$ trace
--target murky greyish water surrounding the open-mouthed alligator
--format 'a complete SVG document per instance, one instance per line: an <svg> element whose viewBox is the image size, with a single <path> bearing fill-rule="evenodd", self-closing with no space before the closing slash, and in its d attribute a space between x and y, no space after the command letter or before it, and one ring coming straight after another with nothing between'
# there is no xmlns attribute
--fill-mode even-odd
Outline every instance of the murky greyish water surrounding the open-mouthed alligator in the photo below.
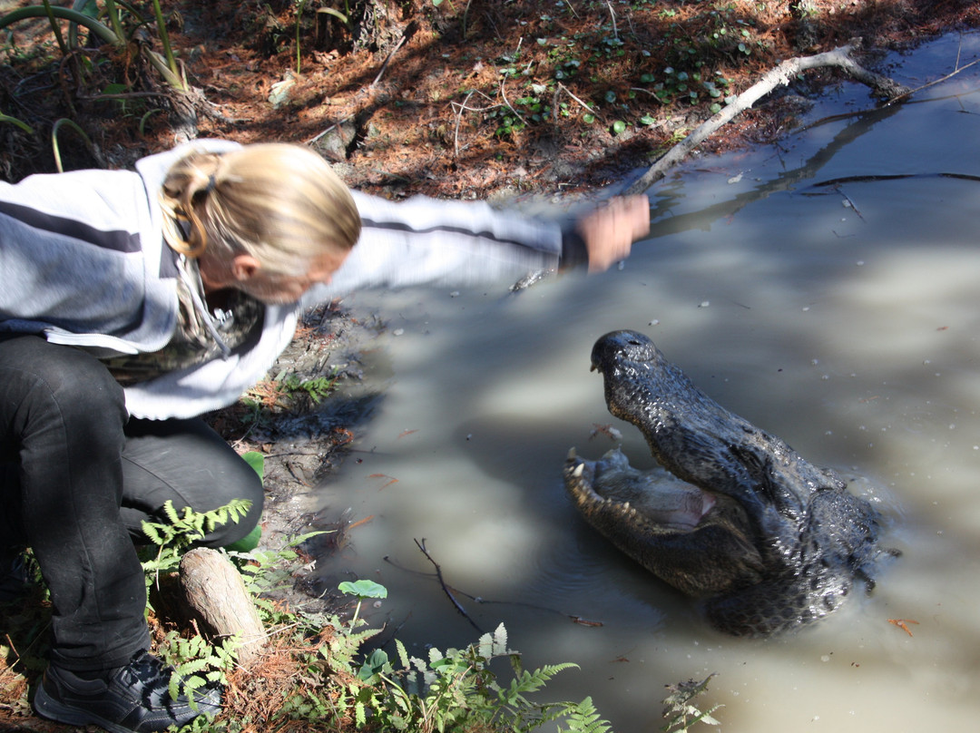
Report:
<svg viewBox="0 0 980 733"><path fill-rule="evenodd" d="M917 85L957 54L976 59L980 36L896 58L893 73ZM705 706L724 706L729 731L973 729L980 182L956 176L980 174L978 88L980 66L916 103L690 164L651 191L652 236L620 270L518 296L356 296L388 319L368 369L387 389L322 495L326 513L371 518L320 572L386 585L372 620L399 638L464 645L478 634L431 577L424 538L448 583L495 602L460 595L474 623L503 621L527 664L581 665L548 698L592 695L617 731L658 729L664 684L710 672ZM809 119L870 106L846 84ZM614 444L596 424L651 462L588 369L618 328L648 333L719 403L880 503L904 556L871 596L790 638L733 640L573 513L561 466L571 446L594 458ZM914 636L889 618L917 621Z"/></svg>

